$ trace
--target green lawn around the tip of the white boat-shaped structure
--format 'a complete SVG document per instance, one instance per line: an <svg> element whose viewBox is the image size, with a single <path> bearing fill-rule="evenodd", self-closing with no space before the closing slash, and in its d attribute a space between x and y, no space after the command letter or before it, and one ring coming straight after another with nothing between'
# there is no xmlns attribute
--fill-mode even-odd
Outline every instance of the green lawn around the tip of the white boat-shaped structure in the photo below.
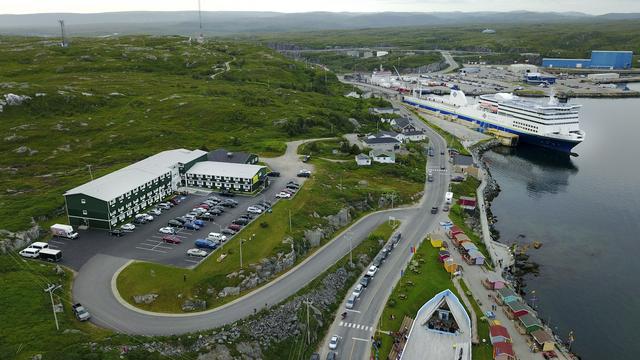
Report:
<svg viewBox="0 0 640 360"><path fill-rule="evenodd" d="M410 269L411 266L415 268L415 271ZM442 263L438 261L438 249L433 248L428 240L425 240L413 255L410 267L405 269L404 275L389 296L380 318L380 330L398 331L405 316L415 318L424 303L446 289L450 289L460 299L460 295L451 282L449 273L444 270ZM391 315L394 315L395 318L391 319ZM482 329L479 328L478 330ZM384 334L379 334L378 337L382 341L379 358L386 359L391 351L393 338ZM492 359L491 351L487 353L485 348L486 346L474 346L473 358L479 360ZM490 346L489 349L491 349Z"/></svg>

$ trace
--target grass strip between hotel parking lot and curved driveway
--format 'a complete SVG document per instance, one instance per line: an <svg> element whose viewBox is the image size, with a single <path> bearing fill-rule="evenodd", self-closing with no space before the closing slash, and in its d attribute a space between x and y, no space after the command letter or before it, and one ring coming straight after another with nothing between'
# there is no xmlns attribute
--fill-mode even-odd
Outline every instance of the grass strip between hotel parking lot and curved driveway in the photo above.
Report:
<svg viewBox="0 0 640 360"><path fill-rule="evenodd" d="M243 244L243 262L245 269L251 263L261 259L289 252L291 247L282 241L293 238L293 246L298 254L298 261L315 251L309 248L304 240L304 230L326 224L323 218L336 214L345 206L355 205L376 199L371 205L377 209L377 199L383 194L395 194L394 205L417 200L414 195L424 186L424 156L407 156L405 164L376 164L370 167L358 167L355 161L348 163L332 163L314 158L311 160L316 171L305 183L298 194L291 200L278 202L272 213L262 215L258 221L244 228L232 240L224 245L219 253L227 257L218 262L218 255L209 257L194 270L176 269L171 266L135 262L125 268L118 277L117 286L122 297L131 301L134 295L156 293L160 296L150 305L139 305L143 309L159 312L180 312L184 298L206 299L209 307L215 307L231 301L234 297L216 299L206 294L206 290L217 291L225 286L236 286L240 279L228 279L227 274L240 270L240 239L255 237ZM362 185L366 181L367 185ZM291 211L293 228L289 229L289 211ZM356 218L365 211L353 211ZM261 224L267 224L263 227ZM332 235L333 236L333 235ZM324 241L328 241L328 238ZM183 280L187 275L187 280ZM217 293L216 291L216 293ZM241 294L242 295L242 294Z"/></svg>

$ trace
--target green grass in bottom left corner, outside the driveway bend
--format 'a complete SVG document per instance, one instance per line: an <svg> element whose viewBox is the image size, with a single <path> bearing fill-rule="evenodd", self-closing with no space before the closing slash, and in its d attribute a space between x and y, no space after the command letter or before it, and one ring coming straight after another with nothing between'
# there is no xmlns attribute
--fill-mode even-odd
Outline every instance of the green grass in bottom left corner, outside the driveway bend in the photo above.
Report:
<svg viewBox="0 0 640 360"><path fill-rule="evenodd" d="M117 345L121 339L90 323L75 320L71 312L72 274L56 275L55 266L25 261L15 253L0 256L0 358L31 359L46 354L46 359L79 359L88 342L109 339ZM64 312L58 313L60 330L56 331L46 284L63 287L56 290L56 303L62 301ZM71 332L70 332L71 331ZM116 359L115 354L104 354Z"/></svg>

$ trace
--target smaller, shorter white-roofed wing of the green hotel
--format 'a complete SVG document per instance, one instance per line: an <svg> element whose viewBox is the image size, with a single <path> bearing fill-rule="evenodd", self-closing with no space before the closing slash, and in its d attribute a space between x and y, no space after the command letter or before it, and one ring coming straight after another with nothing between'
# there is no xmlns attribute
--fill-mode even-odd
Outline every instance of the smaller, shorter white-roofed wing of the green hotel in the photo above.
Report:
<svg viewBox="0 0 640 360"><path fill-rule="evenodd" d="M267 168L260 165L202 161L186 172L187 186L236 192L254 192L266 181Z"/></svg>

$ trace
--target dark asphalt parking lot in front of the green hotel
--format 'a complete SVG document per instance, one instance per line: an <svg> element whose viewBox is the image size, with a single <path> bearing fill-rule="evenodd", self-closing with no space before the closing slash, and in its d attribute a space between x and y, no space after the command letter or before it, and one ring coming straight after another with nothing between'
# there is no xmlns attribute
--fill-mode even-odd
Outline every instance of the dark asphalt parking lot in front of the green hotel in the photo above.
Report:
<svg viewBox="0 0 640 360"><path fill-rule="evenodd" d="M207 193L198 191L186 196L182 196L181 202L168 210L163 210L159 216L154 216L154 220L146 224L136 224L135 230L126 232L124 236L112 236L108 231L98 229L79 230L80 237L75 240L65 238L53 238L49 246L63 252L62 264L73 269L80 269L82 265L95 254L107 254L123 258L157 262L177 267L193 267L201 262L203 257L188 256L187 250L194 248L196 239L205 239L210 232L221 232L234 219L247 213L247 208L261 201L269 201L273 205L278 199L275 195L282 190L289 180L294 180L302 184L303 179L290 177L269 178L270 185L261 193L254 196L236 195L232 197L238 202L236 207L227 207L225 212L216 216L213 221L204 221L204 226L199 230L178 229L175 236L180 240L179 244L170 244L163 241L166 234L159 232L159 229L166 227L169 220L183 216L197 207L209 196L217 196L225 199L218 193ZM287 200L284 200L287 201ZM251 221L260 219L254 217ZM233 235L238 236L238 235ZM250 234L243 234L250 236ZM228 239L231 236L227 235ZM228 241L228 240L227 240ZM217 256L225 243L211 252L209 256Z"/></svg>

